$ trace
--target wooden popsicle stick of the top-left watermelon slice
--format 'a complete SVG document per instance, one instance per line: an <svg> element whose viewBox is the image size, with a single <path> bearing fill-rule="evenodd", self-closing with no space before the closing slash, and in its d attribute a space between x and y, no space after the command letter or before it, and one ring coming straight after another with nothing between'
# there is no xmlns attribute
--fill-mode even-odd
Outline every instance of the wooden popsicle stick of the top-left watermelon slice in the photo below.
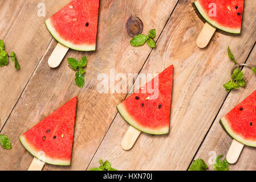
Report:
<svg viewBox="0 0 256 182"><path fill-rule="evenodd" d="M52 51L51 56L48 59L48 64L51 68L56 68L62 62L64 56L68 51L68 47L63 46L62 44L58 43L55 47L54 51Z"/></svg>

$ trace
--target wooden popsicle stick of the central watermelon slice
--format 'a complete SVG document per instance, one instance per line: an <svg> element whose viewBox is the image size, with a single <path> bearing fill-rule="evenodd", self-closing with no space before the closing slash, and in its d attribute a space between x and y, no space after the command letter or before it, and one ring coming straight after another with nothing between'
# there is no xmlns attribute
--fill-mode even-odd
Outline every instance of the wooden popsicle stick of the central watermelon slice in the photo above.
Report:
<svg viewBox="0 0 256 182"><path fill-rule="evenodd" d="M130 126L121 142L121 146L122 146L123 150L130 150L133 147L133 145L135 144L140 133L141 133L141 131Z"/></svg>

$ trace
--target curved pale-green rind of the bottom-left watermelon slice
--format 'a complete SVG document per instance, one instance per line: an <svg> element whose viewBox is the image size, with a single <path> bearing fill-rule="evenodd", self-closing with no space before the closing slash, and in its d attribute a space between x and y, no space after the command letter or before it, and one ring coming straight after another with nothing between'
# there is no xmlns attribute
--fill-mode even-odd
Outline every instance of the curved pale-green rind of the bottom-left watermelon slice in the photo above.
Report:
<svg viewBox="0 0 256 182"><path fill-rule="evenodd" d="M38 150L35 150L34 149L35 147L33 147L26 140L26 138L23 137L23 135L21 135L21 137L19 137L19 140L21 141L23 146L26 148L26 150L30 152L30 154L32 154L35 158L41 160L42 162L45 162L47 164L52 164L52 165L58 165L58 166L70 166L70 160L53 159L53 158L50 158L47 156L45 156L45 160L41 159L40 156L38 155Z"/></svg>

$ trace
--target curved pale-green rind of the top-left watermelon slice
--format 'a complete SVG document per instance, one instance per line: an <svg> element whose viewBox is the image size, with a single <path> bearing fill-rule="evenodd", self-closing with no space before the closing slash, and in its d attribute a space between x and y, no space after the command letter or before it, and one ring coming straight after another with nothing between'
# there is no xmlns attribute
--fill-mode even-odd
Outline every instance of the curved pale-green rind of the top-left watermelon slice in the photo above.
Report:
<svg viewBox="0 0 256 182"><path fill-rule="evenodd" d="M67 40L64 40L58 32L55 30L55 28L52 26L51 18L48 18L44 22L46 24L46 27L48 31L51 33L51 35L63 46L66 46L68 48L74 49L76 51L95 51L96 50L96 43L95 44L81 44L76 45L74 43L68 42Z"/></svg>

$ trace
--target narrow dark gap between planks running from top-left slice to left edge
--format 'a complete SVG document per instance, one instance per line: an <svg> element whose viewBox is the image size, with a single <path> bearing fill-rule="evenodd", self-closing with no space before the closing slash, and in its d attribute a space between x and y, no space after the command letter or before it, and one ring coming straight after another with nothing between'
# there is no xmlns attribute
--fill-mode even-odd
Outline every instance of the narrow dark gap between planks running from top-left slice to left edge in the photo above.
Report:
<svg viewBox="0 0 256 182"><path fill-rule="evenodd" d="M2 130L3 130L3 128L5 127L6 123L8 122L8 120L9 120L11 114L13 113L13 110L15 109L15 107L17 106L17 104L18 104L18 102L19 102L19 99L21 98L23 92L24 92L25 89L27 88L27 85L29 85L29 82L30 82L32 76L34 75L36 69L38 68L38 65L39 65L39 64L41 63L41 61L43 60L43 57L46 55L47 50L48 50L48 48L50 47L50 44L52 43L53 40L54 40L54 38L52 38L52 39L50 40L50 42L48 43L48 45L47 45L45 51L43 52L42 57L40 57L38 63L36 64L34 71L31 73L31 76L29 77L29 80L27 81L26 85L24 86L24 88L23 88L21 94L19 95L18 100L15 102L15 104L14 104L14 106L13 106L13 109L11 109L10 114L8 115L6 121L3 123L2 129L0 129L0 133L2 132Z"/></svg>

